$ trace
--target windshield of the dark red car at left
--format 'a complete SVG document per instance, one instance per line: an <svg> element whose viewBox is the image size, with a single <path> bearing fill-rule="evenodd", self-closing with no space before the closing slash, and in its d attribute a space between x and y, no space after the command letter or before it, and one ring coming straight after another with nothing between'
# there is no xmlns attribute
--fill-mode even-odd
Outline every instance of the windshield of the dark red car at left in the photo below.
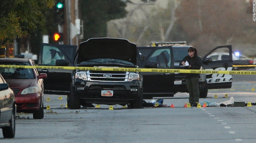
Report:
<svg viewBox="0 0 256 143"><path fill-rule="evenodd" d="M1 65L17 65L17 66L30 66L29 63L23 62L6 62L0 63ZM0 73L5 79L34 79L34 73L32 69L24 68L0 68Z"/></svg>

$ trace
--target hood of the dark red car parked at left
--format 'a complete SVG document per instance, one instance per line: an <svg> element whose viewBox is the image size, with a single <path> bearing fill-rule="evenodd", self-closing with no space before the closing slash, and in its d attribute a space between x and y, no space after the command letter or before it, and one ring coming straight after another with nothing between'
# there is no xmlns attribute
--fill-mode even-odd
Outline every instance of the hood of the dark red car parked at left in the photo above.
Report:
<svg viewBox="0 0 256 143"><path fill-rule="evenodd" d="M35 79L5 79L10 88L24 89L33 86Z"/></svg>

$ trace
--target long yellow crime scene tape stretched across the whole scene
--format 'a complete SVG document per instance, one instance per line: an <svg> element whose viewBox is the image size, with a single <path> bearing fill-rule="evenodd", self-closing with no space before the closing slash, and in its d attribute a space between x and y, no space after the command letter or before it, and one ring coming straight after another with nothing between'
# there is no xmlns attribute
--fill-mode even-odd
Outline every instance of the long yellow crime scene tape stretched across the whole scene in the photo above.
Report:
<svg viewBox="0 0 256 143"><path fill-rule="evenodd" d="M102 68L102 67L66 67L66 66L17 66L0 65L0 68L54 69L54 70L84 70L84 71L132 71L132 72L170 72L170 73L203 73L203 74L247 74L256 75L256 71L227 70L183 70L183 69L145 69L145 68Z"/></svg>

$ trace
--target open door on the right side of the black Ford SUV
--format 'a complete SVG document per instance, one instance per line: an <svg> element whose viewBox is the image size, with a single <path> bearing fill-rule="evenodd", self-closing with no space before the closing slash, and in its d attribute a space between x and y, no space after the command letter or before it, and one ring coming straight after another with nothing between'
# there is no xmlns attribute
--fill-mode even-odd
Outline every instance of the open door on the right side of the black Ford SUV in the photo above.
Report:
<svg viewBox="0 0 256 143"><path fill-rule="evenodd" d="M141 72L143 98L173 97L174 73L168 72L174 68L171 46L137 47L137 54L140 68L166 69L165 72Z"/></svg>

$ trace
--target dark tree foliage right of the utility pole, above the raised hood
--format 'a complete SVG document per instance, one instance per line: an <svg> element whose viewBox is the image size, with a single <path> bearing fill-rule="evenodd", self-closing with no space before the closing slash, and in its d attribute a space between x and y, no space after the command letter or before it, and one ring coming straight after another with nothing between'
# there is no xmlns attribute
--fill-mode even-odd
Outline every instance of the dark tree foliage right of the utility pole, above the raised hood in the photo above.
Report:
<svg viewBox="0 0 256 143"><path fill-rule="evenodd" d="M106 37L107 22L126 15L126 3L121 0L81 0L81 19L84 22L84 40Z"/></svg>

